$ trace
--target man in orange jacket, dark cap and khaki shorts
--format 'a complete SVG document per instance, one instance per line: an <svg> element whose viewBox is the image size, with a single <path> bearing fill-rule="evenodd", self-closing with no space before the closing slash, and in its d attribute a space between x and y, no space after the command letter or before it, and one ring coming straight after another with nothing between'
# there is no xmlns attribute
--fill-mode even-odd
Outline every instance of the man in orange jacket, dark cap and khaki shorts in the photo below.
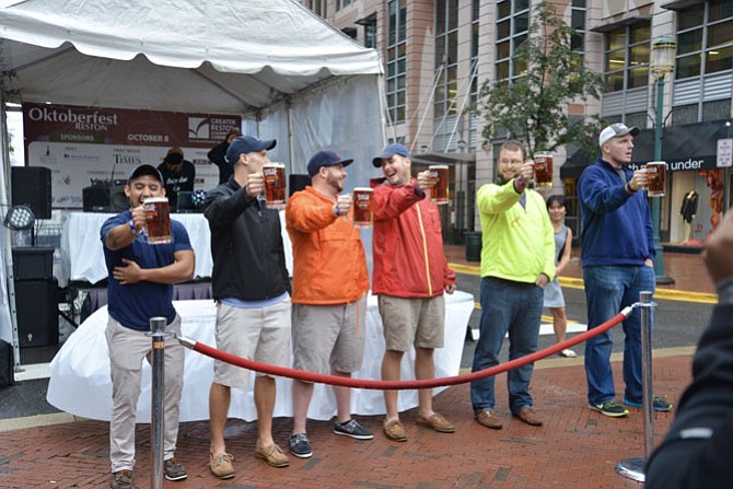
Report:
<svg viewBox="0 0 733 489"><path fill-rule="evenodd" d="M307 164L311 186L292 195L286 228L293 245L292 346L298 370L350 377L361 369L369 275L359 230L350 218L351 196L339 195L353 160L330 150ZM374 435L351 418L350 389L334 387L334 433L357 440ZM290 452L313 455L305 433L313 384L293 381Z"/></svg>

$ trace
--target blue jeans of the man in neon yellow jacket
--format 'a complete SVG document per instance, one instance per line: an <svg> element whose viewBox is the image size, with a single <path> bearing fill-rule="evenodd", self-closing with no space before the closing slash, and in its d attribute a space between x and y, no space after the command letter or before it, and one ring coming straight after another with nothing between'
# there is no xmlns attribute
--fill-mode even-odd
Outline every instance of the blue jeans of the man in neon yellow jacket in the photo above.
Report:
<svg viewBox="0 0 733 489"><path fill-rule="evenodd" d="M474 372L499 364L499 351L507 331L510 360L537 350L543 296L543 289L534 283L481 278L480 337L474 351ZM534 363L530 363L507 372L509 407L514 415L523 407L532 406L530 381L533 370ZM493 408L493 376L470 383L474 412Z"/></svg>

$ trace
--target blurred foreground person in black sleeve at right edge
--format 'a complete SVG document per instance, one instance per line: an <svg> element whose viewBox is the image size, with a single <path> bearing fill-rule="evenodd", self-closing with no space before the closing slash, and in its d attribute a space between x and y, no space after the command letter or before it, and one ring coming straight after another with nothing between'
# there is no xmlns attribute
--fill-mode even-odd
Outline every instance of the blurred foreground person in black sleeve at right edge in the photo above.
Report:
<svg viewBox="0 0 733 489"><path fill-rule="evenodd" d="M647 489L730 488L733 440L733 212L712 234L703 255L718 305L693 361L664 442L647 464Z"/></svg>

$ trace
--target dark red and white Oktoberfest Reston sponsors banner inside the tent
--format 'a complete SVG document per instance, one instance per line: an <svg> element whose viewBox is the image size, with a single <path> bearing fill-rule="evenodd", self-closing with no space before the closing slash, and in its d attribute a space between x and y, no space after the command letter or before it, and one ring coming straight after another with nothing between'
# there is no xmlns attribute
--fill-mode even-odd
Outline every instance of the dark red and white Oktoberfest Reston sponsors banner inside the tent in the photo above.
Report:
<svg viewBox="0 0 733 489"><path fill-rule="evenodd" d="M25 159L51 171L51 206L81 209L82 189L126 181L141 163L158 166L178 147L196 167L195 189L219 183L207 153L242 117L159 110L23 104Z"/></svg>

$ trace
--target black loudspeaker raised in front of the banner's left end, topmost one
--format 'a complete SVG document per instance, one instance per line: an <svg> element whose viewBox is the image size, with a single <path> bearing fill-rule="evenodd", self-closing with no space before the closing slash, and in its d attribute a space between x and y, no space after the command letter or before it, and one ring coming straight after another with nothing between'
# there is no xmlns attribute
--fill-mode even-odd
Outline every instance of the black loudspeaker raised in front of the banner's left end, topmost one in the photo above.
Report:
<svg viewBox="0 0 733 489"><path fill-rule="evenodd" d="M51 171L45 166L13 166L10 174L13 206L26 205L36 219L51 218Z"/></svg>

